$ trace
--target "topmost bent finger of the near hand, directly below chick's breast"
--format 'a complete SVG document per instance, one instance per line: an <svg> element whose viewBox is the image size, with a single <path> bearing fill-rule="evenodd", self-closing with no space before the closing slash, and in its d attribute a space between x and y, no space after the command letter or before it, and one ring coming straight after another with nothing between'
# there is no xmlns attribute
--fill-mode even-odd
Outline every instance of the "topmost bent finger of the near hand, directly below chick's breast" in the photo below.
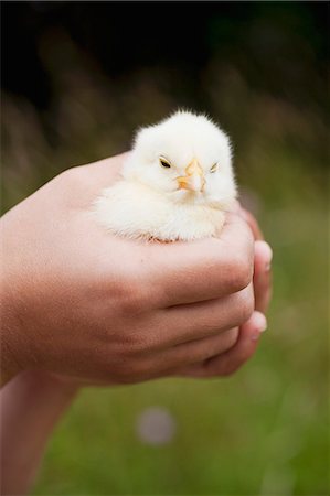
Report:
<svg viewBox="0 0 330 496"><path fill-rule="evenodd" d="M160 306L221 298L252 280L254 242L247 224L227 214L220 238L146 246L149 282Z"/></svg>

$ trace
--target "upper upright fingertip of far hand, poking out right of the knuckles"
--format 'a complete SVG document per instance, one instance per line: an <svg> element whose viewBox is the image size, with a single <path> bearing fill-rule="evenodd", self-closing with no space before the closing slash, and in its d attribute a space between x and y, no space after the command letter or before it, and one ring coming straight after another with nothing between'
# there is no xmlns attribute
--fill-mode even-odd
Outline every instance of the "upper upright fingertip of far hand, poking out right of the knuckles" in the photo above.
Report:
<svg viewBox="0 0 330 496"><path fill-rule="evenodd" d="M272 248L265 241L255 242L255 308L265 313L272 298Z"/></svg>

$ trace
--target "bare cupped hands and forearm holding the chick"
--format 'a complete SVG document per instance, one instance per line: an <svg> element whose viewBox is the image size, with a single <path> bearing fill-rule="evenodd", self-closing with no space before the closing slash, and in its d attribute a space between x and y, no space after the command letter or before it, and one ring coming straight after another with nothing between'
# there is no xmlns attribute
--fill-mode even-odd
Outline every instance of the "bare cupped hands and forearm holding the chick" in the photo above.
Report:
<svg viewBox="0 0 330 496"><path fill-rule="evenodd" d="M253 218L192 244L115 238L89 207L121 162L68 170L2 217L3 494L28 490L79 386L228 375L266 326L272 252Z"/></svg>

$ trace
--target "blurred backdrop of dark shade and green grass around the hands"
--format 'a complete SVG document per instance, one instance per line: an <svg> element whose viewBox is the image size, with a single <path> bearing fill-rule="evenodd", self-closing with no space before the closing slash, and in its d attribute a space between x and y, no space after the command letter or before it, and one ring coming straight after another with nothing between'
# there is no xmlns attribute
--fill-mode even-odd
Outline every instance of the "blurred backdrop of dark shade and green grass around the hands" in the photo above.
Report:
<svg viewBox="0 0 330 496"><path fill-rule="evenodd" d="M256 356L82 391L33 494L329 495L328 20L328 2L2 2L3 212L185 107L232 137L274 249Z"/></svg>

